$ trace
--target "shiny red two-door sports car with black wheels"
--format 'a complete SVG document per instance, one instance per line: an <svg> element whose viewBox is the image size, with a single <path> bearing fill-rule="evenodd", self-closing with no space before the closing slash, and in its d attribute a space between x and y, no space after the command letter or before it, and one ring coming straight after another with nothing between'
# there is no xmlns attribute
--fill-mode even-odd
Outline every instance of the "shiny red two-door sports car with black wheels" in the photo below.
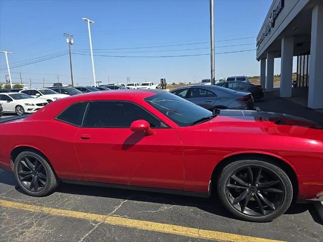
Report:
<svg viewBox="0 0 323 242"><path fill-rule="evenodd" d="M67 97L0 124L0 166L45 196L63 183L209 197L248 221L322 199L323 130L278 113L210 112L158 90Z"/></svg>

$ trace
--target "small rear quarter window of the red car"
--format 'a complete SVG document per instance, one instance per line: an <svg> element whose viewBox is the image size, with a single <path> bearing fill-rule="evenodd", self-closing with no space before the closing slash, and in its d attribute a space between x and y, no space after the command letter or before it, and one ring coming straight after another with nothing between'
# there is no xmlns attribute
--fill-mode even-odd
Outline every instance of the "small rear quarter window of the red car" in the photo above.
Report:
<svg viewBox="0 0 323 242"><path fill-rule="evenodd" d="M87 102L75 103L65 109L57 119L64 122L81 126Z"/></svg>

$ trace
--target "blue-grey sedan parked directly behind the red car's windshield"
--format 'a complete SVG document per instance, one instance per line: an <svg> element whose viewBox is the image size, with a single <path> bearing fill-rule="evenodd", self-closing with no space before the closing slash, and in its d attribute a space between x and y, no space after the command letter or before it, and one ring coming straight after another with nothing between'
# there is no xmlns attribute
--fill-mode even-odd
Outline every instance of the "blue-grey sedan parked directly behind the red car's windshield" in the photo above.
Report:
<svg viewBox="0 0 323 242"><path fill-rule="evenodd" d="M219 86L185 86L174 89L171 91L171 93L209 110L215 108L254 109L254 101L251 93L237 92Z"/></svg>

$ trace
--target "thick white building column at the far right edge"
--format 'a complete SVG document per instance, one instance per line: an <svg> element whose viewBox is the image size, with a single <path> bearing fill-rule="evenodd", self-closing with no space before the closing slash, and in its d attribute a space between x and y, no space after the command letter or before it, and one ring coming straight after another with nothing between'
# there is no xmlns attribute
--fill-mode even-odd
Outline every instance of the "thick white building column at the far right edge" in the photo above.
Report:
<svg viewBox="0 0 323 242"><path fill-rule="evenodd" d="M323 4L312 10L311 53L309 58L308 104L323 108Z"/></svg>

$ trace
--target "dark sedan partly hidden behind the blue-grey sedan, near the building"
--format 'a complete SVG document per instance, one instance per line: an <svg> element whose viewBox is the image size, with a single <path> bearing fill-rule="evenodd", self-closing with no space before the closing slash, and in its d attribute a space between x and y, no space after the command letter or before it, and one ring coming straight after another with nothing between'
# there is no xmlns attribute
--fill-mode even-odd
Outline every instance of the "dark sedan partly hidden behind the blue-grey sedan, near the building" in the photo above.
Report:
<svg viewBox="0 0 323 242"><path fill-rule="evenodd" d="M264 96L263 88L261 85L253 85L248 82L232 81L232 82L221 82L216 84L220 87L226 87L237 92L250 92L254 99L260 99Z"/></svg>

